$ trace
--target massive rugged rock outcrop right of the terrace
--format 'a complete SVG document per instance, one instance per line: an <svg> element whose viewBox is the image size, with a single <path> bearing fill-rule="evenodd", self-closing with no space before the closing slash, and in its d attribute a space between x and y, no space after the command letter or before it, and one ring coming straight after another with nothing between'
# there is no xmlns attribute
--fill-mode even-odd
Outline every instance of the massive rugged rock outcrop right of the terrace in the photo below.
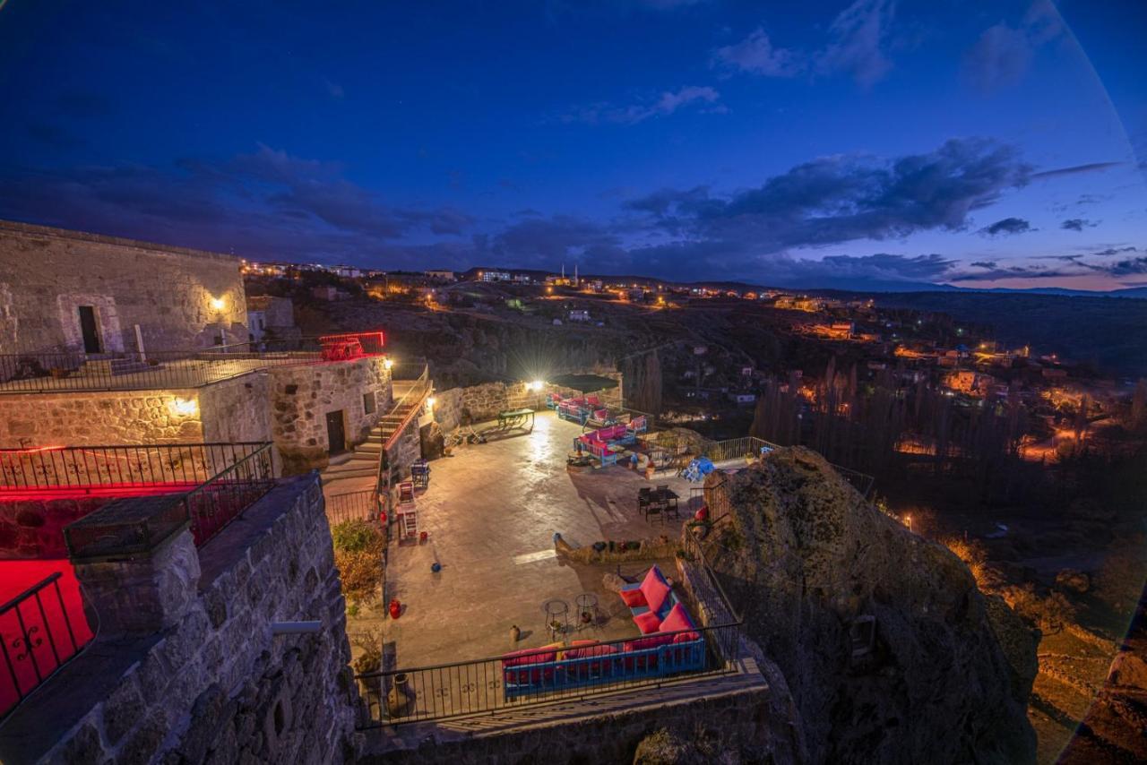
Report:
<svg viewBox="0 0 1147 765"><path fill-rule="evenodd" d="M805 448L710 476L709 490L731 507L705 540L710 563L783 671L812 762L1035 759L1036 642L952 553Z"/></svg>

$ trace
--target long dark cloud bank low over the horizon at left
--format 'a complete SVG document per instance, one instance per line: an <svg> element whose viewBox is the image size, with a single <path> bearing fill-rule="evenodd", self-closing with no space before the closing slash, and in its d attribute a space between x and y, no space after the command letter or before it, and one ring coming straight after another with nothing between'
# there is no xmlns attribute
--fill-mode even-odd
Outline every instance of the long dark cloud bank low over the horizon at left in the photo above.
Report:
<svg viewBox="0 0 1147 765"><path fill-rule="evenodd" d="M336 163L258 146L173 165L6 169L0 217L251 257L361 259L388 241L460 236L475 219L452 208L396 206Z"/></svg>

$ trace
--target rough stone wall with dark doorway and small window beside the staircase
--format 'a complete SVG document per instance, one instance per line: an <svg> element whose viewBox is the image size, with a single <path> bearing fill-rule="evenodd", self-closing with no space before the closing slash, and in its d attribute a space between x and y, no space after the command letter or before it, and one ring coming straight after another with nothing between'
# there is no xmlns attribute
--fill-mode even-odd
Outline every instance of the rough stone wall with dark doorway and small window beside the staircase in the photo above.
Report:
<svg viewBox="0 0 1147 765"><path fill-rule="evenodd" d="M274 367L271 376L271 428L283 470L298 473L327 463L330 447L327 413L343 412L348 445L366 440L391 406L390 370L382 357L356 361ZM367 413L362 396L375 395Z"/></svg>

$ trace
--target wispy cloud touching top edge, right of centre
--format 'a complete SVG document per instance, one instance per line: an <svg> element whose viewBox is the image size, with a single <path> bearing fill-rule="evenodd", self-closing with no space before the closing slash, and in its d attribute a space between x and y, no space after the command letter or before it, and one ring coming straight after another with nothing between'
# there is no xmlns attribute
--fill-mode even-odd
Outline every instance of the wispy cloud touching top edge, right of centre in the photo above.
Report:
<svg viewBox="0 0 1147 765"><path fill-rule="evenodd" d="M824 73L846 73L863 87L872 87L891 71L884 53L896 3L892 0L857 0L828 28L833 41L817 54Z"/></svg>

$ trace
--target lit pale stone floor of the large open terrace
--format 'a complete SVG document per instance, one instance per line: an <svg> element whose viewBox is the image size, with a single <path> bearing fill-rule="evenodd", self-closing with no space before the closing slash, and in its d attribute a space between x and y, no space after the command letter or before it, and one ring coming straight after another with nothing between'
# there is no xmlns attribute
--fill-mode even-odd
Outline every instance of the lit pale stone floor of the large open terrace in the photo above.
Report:
<svg viewBox="0 0 1147 765"><path fill-rule="evenodd" d="M478 430L482 428L478 427ZM676 537L689 517L689 484L676 476L653 482L623 467L586 473L565 469L567 454L582 428L538 413L529 435L467 446L431 463L430 487L418 497L422 544L391 541L385 600L403 603L398 619L387 619L383 639L400 668L499 656L552 642L543 604L569 603L570 625L559 640L612 640L637 637L629 609L604 592L609 567L571 565L554 553L555 532L570 545L599 540ZM646 522L638 513L638 490L668 484L680 497L680 520ZM431 572L431 563L442 570ZM663 565L672 569L672 561ZM623 576L643 573L649 562L623 564ZM575 599L594 593L596 622L578 629ZM510 626L522 638L510 643Z"/></svg>

